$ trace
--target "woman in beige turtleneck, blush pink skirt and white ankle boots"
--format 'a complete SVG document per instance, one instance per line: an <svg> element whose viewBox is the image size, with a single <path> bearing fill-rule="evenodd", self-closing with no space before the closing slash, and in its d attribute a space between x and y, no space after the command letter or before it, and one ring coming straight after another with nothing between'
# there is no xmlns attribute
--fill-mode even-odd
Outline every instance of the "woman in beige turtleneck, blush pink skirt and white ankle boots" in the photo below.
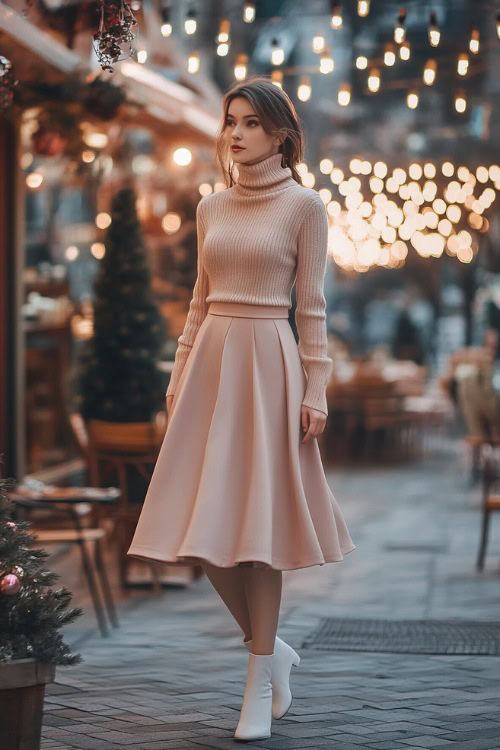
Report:
<svg viewBox="0 0 500 750"><path fill-rule="evenodd" d="M202 565L249 651L234 734L247 741L270 737L271 717L291 705L300 659L276 636L282 571L339 562L355 545L316 440L332 364L328 219L296 170L298 117L264 76L235 84L223 112L227 188L198 203L198 277L166 394L168 428L128 554ZM294 282L298 345L288 322Z"/></svg>

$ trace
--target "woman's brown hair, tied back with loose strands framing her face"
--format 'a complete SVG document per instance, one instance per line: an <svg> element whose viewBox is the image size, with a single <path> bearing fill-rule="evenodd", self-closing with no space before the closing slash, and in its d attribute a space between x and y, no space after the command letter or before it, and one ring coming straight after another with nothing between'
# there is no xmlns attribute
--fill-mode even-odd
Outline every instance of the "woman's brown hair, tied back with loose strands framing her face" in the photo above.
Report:
<svg viewBox="0 0 500 750"><path fill-rule="evenodd" d="M252 76L233 84L222 99L223 118L217 132L215 150L226 186L234 185L235 179L230 163L230 144L224 138L224 131L229 105L237 96L244 96L248 99L266 133L269 135L274 135L278 131L286 133L278 149L283 155L281 166L290 167L293 179L301 185L302 180L297 172L296 164L303 159L304 134L293 102L283 89L271 82L270 77Z"/></svg>

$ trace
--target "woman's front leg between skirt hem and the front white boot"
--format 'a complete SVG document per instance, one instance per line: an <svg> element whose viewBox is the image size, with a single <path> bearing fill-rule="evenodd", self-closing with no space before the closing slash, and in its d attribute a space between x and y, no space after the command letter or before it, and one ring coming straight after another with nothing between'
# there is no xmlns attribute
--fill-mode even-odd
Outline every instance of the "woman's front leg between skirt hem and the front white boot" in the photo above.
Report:
<svg viewBox="0 0 500 750"><path fill-rule="evenodd" d="M252 630L252 652L272 654L281 604L282 571L242 568ZM248 640L248 639L247 639Z"/></svg>

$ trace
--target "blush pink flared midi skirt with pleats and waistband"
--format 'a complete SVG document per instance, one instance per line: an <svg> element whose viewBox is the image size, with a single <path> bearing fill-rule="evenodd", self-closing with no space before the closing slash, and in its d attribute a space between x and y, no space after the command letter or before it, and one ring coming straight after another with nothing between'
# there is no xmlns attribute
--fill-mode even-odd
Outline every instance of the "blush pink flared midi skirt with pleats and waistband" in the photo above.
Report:
<svg viewBox="0 0 500 750"><path fill-rule="evenodd" d="M307 568L355 549L317 440L288 308L212 302L184 364L127 554Z"/></svg>

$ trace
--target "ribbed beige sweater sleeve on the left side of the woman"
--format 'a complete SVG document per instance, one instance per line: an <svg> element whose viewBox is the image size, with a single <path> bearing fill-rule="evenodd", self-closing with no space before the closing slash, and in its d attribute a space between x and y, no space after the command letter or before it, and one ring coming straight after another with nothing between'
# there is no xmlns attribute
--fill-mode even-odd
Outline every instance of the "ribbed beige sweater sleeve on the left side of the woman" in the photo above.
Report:
<svg viewBox="0 0 500 750"><path fill-rule="evenodd" d="M177 350L175 352L175 361L170 374L170 381L166 396L173 395L179 382L184 365L189 356L189 352L193 346L196 334L203 323L207 312L208 304L206 298L208 296L208 276L203 266L203 240L205 238L205 221L202 212L203 198L198 202L196 206L196 234L197 234L197 245L198 245L198 259L197 269L198 276L193 288L193 298L189 304L189 311L187 314L186 322L184 324L184 330L177 339Z"/></svg>

